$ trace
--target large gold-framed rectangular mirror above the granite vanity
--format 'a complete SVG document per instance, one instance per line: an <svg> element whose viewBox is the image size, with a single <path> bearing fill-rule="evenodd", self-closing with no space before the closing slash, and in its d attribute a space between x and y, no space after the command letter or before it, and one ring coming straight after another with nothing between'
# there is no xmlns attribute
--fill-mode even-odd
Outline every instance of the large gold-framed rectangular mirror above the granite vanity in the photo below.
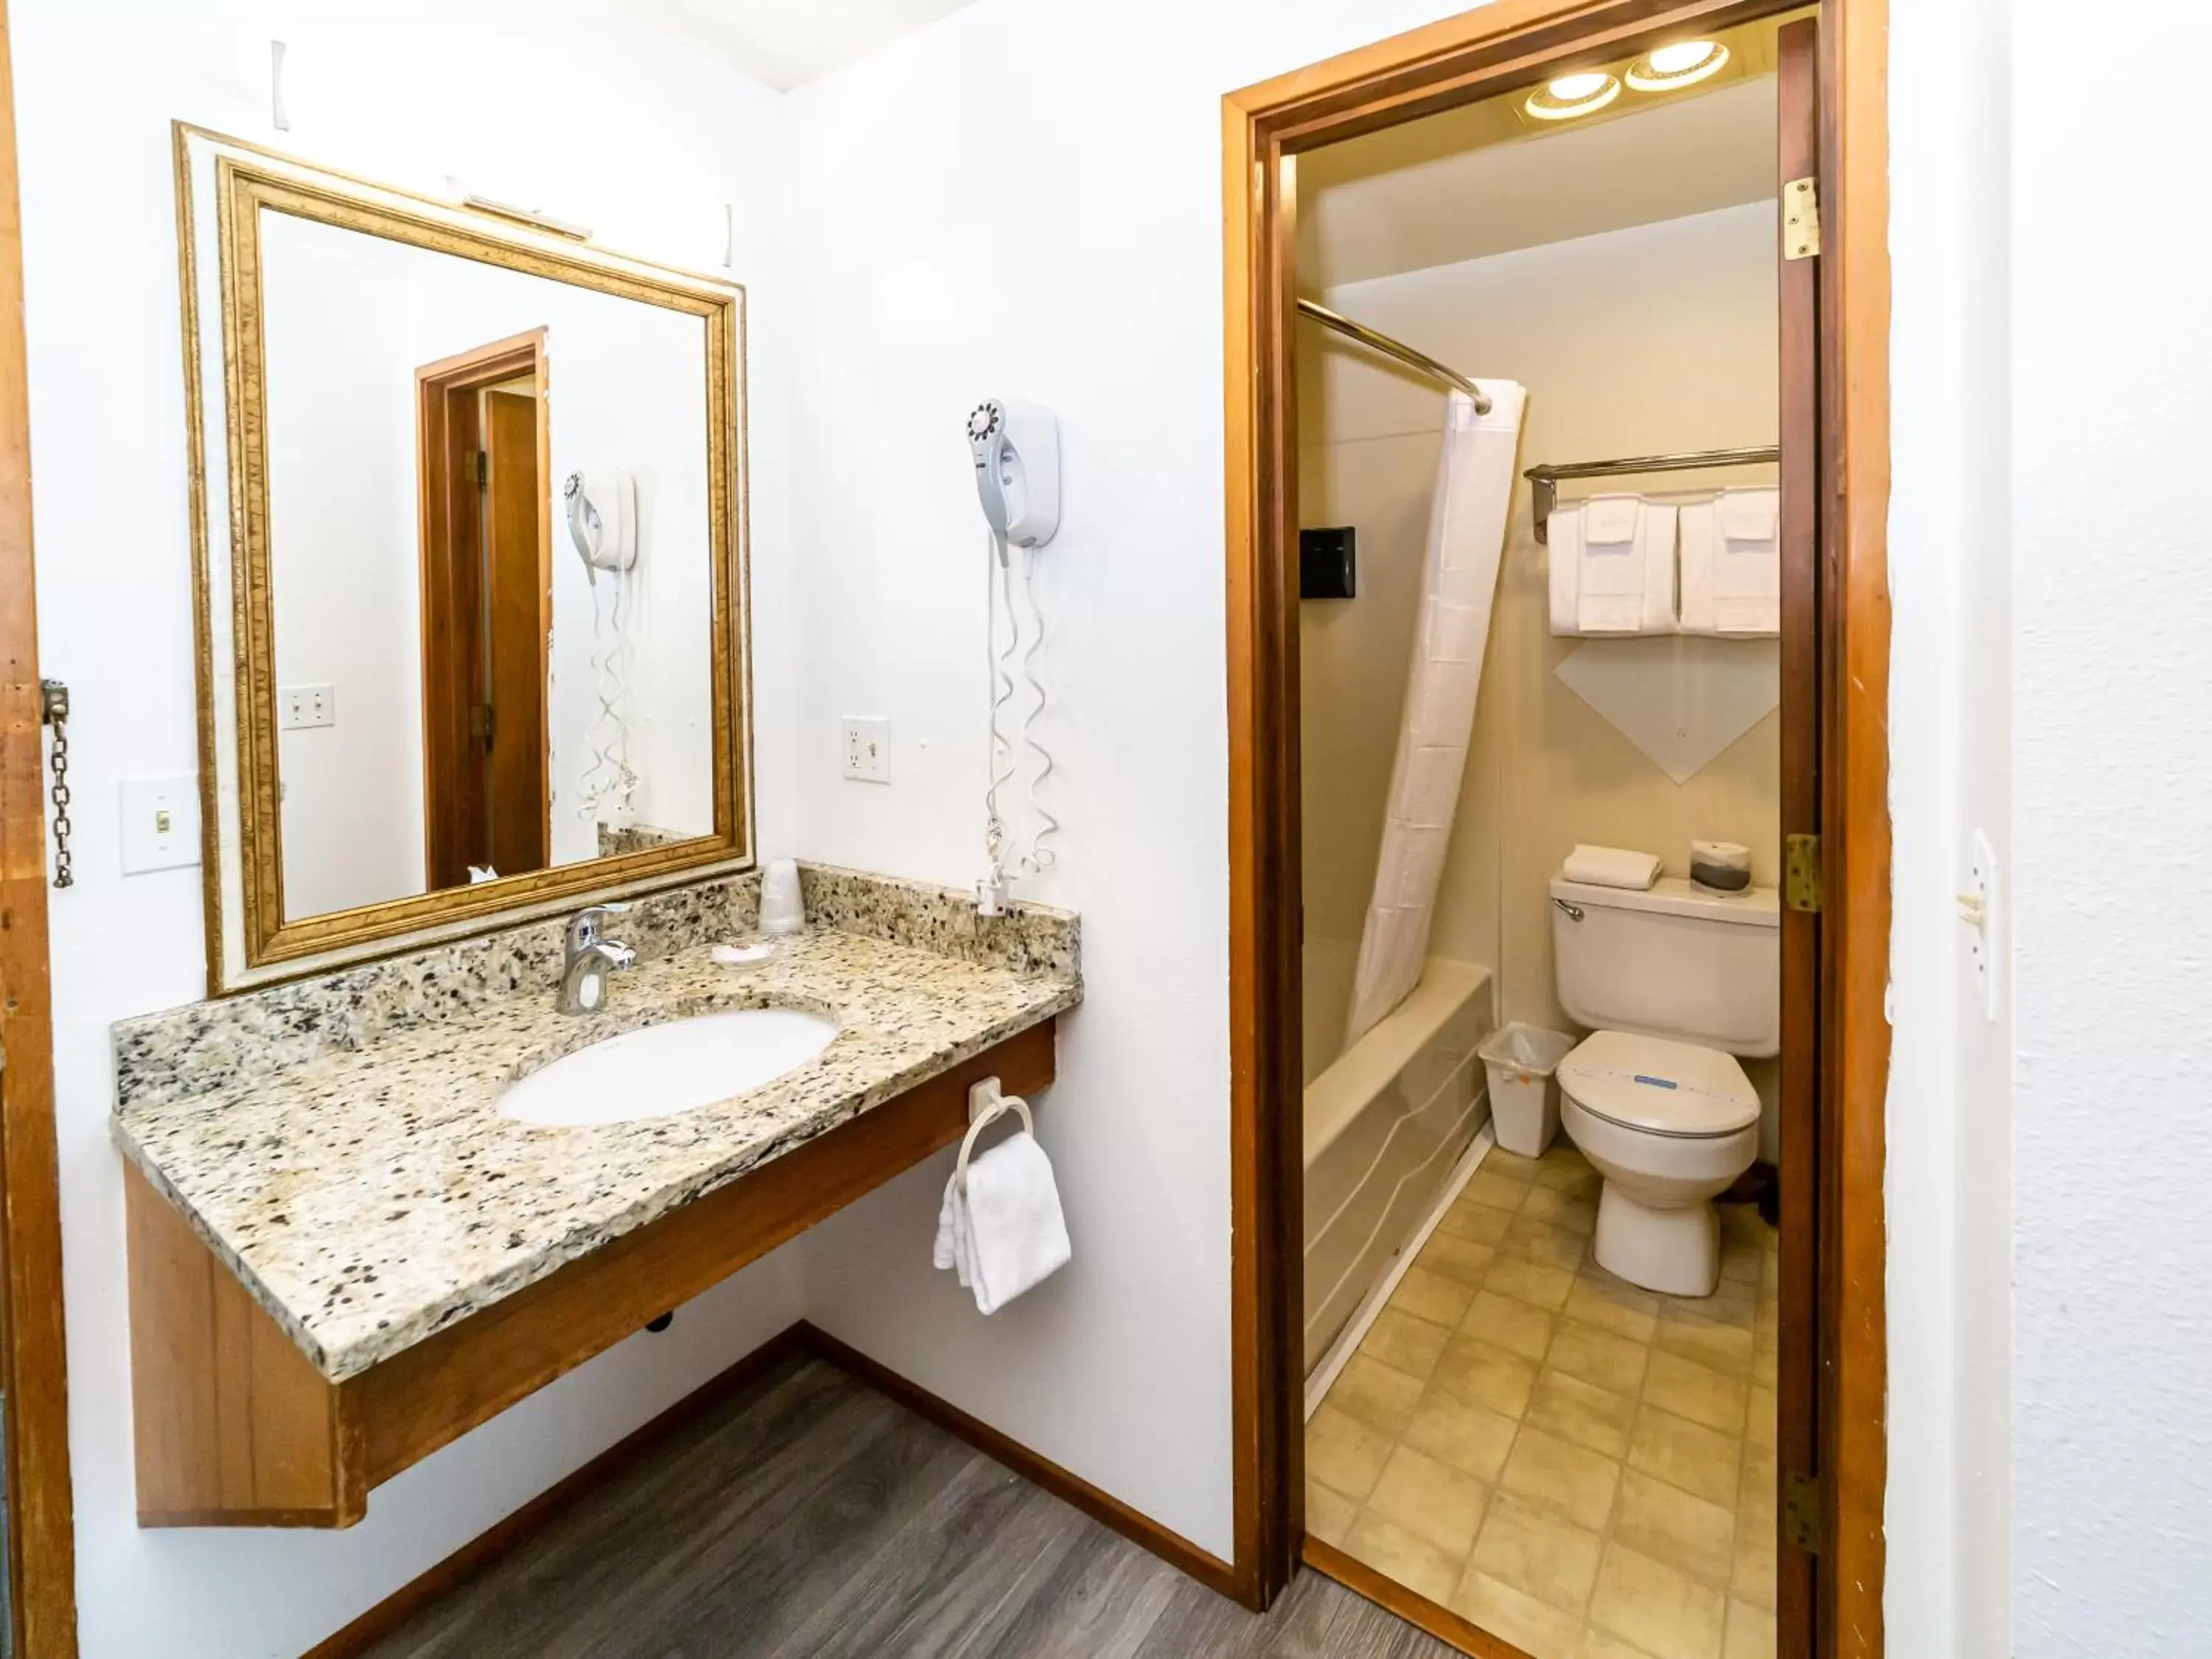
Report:
<svg viewBox="0 0 2212 1659"><path fill-rule="evenodd" d="M210 993L750 867L743 288L175 164Z"/></svg>

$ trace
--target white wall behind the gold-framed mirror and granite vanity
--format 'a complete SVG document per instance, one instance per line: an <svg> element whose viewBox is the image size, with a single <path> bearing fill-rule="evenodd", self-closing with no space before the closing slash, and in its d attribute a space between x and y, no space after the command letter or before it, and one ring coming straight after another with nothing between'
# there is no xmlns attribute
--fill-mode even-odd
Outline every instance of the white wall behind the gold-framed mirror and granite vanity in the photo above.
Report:
<svg viewBox="0 0 2212 1659"><path fill-rule="evenodd" d="M770 261L779 100L571 4L369 11L252 0L15 0L31 449L44 672L75 692L77 885L55 894L55 1108L86 1659L288 1659L796 1314L787 1254L376 1491L345 1533L139 1531L131 1478L108 1024L204 993L199 872L124 880L115 781L192 772L192 622L170 117L445 188L542 201L613 246L708 263L737 208L750 372L774 407L787 310ZM526 22L526 27L522 27ZM294 131L268 128L268 40L294 42ZM498 58L460 102L427 62ZM593 122L544 88L588 64ZM425 166L425 161L429 166ZM781 427L752 422L754 597L790 615ZM763 834L792 841L792 644L757 639Z"/></svg>

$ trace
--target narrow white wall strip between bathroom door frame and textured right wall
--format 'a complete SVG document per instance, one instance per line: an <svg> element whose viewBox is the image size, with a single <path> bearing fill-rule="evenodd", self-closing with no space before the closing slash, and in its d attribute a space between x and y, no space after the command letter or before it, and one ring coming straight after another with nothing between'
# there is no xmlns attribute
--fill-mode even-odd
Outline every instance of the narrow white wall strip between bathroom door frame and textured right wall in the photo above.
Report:
<svg viewBox="0 0 2212 1659"><path fill-rule="evenodd" d="M1975 827L2013 883L2022 874L2008 794L2008 13L2004 0L1891 9L1885 1595L1891 1652L1962 1659L2015 1652L2013 1024L2006 1006L1982 1015L1953 911Z"/></svg>

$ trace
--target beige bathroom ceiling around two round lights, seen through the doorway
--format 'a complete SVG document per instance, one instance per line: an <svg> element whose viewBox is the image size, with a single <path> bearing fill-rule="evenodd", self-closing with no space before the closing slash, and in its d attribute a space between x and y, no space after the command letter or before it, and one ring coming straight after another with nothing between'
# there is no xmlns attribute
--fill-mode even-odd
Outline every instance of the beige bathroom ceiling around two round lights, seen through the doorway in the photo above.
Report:
<svg viewBox="0 0 2212 1659"><path fill-rule="evenodd" d="M1305 290L1774 197L1774 22L1714 82L1535 126L1506 93L1298 157Z"/></svg>

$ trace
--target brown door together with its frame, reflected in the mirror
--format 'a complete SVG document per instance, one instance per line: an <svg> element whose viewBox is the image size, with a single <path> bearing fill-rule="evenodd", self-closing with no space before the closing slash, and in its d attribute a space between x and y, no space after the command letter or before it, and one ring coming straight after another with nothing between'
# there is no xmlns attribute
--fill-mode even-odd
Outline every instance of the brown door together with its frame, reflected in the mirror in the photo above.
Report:
<svg viewBox="0 0 2212 1659"><path fill-rule="evenodd" d="M416 372L429 885L551 865L544 330Z"/></svg>

